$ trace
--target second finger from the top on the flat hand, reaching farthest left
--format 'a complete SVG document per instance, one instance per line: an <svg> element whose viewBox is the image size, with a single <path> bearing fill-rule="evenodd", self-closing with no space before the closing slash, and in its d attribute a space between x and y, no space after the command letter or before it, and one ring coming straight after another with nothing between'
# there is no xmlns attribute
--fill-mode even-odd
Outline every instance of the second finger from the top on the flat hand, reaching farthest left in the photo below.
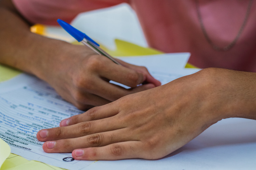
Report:
<svg viewBox="0 0 256 170"><path fill-rule="evenodd" d="M70 126L40 130L37 133L37 139L39 141L68 139L125 128L124 124L113 123L112 120L100 119Z"/></svg>

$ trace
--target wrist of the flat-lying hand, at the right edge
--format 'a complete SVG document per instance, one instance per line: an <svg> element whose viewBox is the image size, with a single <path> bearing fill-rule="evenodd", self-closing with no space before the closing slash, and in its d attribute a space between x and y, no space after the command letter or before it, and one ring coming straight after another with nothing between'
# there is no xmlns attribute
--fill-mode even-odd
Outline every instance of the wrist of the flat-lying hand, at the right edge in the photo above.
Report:
<svg viewBox="0 0 256 170"><path fill-rule="evenodd" d="M256 119L256 73L217 68L205 72L209 81L207 101L217 121L230 117Z"/></svg>

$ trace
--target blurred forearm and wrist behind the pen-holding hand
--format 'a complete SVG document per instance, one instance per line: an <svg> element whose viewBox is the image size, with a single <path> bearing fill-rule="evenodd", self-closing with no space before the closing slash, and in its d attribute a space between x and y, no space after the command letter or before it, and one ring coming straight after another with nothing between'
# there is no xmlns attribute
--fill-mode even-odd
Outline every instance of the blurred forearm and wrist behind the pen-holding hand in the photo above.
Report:
<svg viewBox="0 0 256 170"><path fill-rule="evenodd" d="M44 61L51 60L56 46L68 43L30 32L30 25L12 6L0 6L0 63L17 69L40 74Z"/></svg>

